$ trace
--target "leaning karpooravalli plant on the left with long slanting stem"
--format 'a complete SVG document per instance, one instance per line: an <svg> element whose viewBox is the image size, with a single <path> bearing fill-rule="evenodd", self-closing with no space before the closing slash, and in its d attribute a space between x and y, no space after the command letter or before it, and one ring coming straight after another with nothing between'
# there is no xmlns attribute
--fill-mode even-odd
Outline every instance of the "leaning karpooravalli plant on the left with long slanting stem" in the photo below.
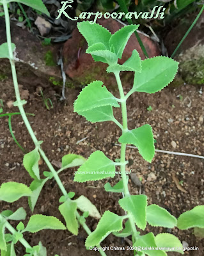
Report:
<svg viewBox="0 0 204 256"><path fill-rule="evenodd" d="M23 164L24 168L26 168L27 172L29 173L30 177L33 179L30 186L27 187L25 184L18 183L18 182L4 182L1 184L0 187L0 201L4 202L15 202L19 200L22 196L28 197L28 203L31 211L34 211L36 202L42 191L42 188L49 179L54 178L56 183L61 190L62 196L59 198L59 212L65 219L67 229L72 232L73 234L77 235L79 230L79 225L81 225L87 234L91 234L90 228L86 225L86 218L88 216L92 216L93 218L100 218L100 213L98 212L95 205L91 204L90 200L85 196L79 196L77 199L72 199L75 196L75 193L70 191L69 193L66 191L63 183L59 178L59 173L63 170L75 166L79 166L86 161L84 157L78 156L76 154L68 154L63 156L61 162L61 168L56 171L52 166L51 162L45 155L42 149L43 141L38 141L33 132L31 125L29 124L29 120L27 119L26 112L24 111L24 104L26 104L26 100L20 99L20 92L19 92L19 84L17 81L17 73L15 69L15 45L12 44L11 39L11 31L10 31L10 17L8 13L8 4L13 1L8 0L0 0L0 5L3 5L4 9L4 17L6 21L6 38L7 42L0 45L0 58L8 58L10 60L11 70L12 70L12 77L13 77L13 86L15 89L15 96L16 101L14 102L13 106L17 106L19 108L20 115L26 125L27 131L31 136L33 143L35 145L34 150L27 153L24 156ZM36 10L43 12L49 15L47 8L42 3L41 0L16 0L15 2L26 4L31 8L35 8ZM45 164L49 169L49 172L43 172L45 176L43 179L40 177L40 168L39 168L39 161L40 157L42 157ZM78 211L83 212L81 215ZM26 218L26 212L24 209L19 208L17 211L0 211L0 250L1 255L3 256L15 256L15 248L14 244L18 241L22 243L22 245L26 248L27 254L25 256L46 256L47 251L43 247L42 243L40 242L38 246L34 246L33 248L26 242L22 233L23 232L38 232L42 229L66 229L65 225L61 223L57 218L54 216L43 216L41 214L35 214L31 216L27 226L24 227L22 222L17 225L17 230L15 230L8 220L24 220ZM11 234L5 233L6 230L9 230ZM98 247L100 244L98 244ZM103 252L100 252L101 255L105 255Z"/></svg>

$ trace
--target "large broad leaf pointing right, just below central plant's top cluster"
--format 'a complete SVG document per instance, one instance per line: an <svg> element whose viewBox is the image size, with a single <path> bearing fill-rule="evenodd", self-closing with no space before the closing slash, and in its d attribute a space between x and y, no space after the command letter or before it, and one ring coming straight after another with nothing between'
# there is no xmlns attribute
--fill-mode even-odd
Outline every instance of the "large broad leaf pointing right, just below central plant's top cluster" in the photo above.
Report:
<svg viewBox="0 0 204 256"><path fill-rule="evenodd" d="M136 72L134 77L132 88L134 92L159 92L173 81L178 71L178 62L165 56L157 56L141 62L142 71Z"/></svg>

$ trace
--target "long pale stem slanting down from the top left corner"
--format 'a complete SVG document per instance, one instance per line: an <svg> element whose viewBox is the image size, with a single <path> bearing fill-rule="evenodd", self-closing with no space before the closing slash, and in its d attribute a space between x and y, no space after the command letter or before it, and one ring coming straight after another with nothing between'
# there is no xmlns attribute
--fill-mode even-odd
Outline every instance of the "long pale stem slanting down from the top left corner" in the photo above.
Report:
<svg viewBox="0 0 204 256"><path fill-rule="evenodd" d="M47 164L47 167L49 168L49 170L52 172L52 174L54 176L54 179L56 180L59 188L61 189L61 192L63 193L63 195L67 196L67 191L66 191L65 187L63 186L61 180L59 179L58 173L56 172L56 170L54 170L54 167L52 166L51 162L49 161L49 159L45 155L45 152L43 152L42 148L40 147L40 143L37 140L37 138L36 138L36 136L33 132L33 129L32 129L32 127L29 124L29 121L27 119L26 112L24 111L23 104L22 104L22 101L20 99L19 84L18 84L18 81L17 81L17 73L16 73L16 69L15 69L15 60L13 58L13 52L12 52L10 17L9 17L8 6L7 6L8 2L6 0L3 0L2 3L3 3L3 7L4 7L4 15L5 15L5 20L6 20L6 38L7 38L7 44L8 44L10 64L11 64L11 68L12 68L13 86L14 86L14 89L15 89L15 97L17 99L17 106L19 107L20 115L22 116L22 120L24 120L24 124L26 125L27 131L29 132L29 134L30 134L30 136L33 140L33 143L35 144L35 147L38 148L38 150L40 152L40 155L42 156L43 160ZM80 215L79 215L78 212L77 212L76 216L77 216L77 220L79 221L79 223L81 223ZM90 230L90 228L88 228L86 223L81 223L81 225L82 225L82 227L84 228L84 230L86 231L86 233L88 235L91 234L91 230ZM100 244L99 244L99 246L100 246ZM102 256L106 255L106 253L104 253L101 250L99 252Z"/></svg>

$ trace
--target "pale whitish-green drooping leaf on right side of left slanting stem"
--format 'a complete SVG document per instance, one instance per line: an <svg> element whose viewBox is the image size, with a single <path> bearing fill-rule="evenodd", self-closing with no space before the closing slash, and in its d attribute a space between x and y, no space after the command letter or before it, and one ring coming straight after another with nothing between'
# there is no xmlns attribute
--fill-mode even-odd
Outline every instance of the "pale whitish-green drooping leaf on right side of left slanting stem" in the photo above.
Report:
<svg viewBox="0 0 204 256"><path fill-rule="evenodd" d="M100 213L97 210L97 207L91 203L88 198L85 196L79 196L76 200L73 200L77 204L77 208L82 212L87 212L93 218L100 219Z"/></svg>

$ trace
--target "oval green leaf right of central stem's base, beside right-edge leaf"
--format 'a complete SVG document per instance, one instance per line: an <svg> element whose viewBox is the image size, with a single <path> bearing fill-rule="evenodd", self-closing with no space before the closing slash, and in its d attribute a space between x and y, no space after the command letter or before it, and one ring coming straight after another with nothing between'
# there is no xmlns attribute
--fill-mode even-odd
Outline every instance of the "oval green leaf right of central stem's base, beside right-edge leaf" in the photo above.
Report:
<svg viewBox="0 0 204 256"><path fill-rule="evenodd" d="M153 227L174 228L177 226L177 219L166 209L156 204L148 205L146 221Z"/></svg>

